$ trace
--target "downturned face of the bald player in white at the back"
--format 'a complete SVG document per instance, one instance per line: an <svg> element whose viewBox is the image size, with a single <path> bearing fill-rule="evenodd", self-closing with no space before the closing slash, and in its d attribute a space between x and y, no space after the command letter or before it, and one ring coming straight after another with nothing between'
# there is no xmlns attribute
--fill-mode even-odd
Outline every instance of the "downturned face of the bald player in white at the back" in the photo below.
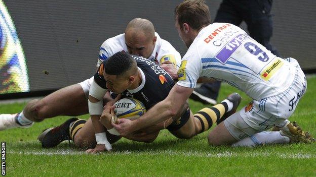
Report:
<svg viewBox="0 0 316 177"><path fill-rule="evenodd" d="M128 52L133 55L148 58L155 46L156 36L153 38L146 36L143 32L137 35L125 33L125 43Z"/></svg>

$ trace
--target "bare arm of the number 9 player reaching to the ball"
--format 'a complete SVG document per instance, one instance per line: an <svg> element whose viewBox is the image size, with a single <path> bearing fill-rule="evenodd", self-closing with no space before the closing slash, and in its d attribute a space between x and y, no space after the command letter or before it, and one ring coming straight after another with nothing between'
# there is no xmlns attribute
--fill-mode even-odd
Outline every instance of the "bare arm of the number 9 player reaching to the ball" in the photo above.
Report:
<svg viewBox="0 0 316 177"><path fill-rule="evenodd" d="M154 105L148 110L148 112L140 116L135 121L120 119L120 124L112 124L112 126L122 136L125 136L131 132L166 121L170 117L175 116L177 112L181 110L181 107L184 106L192 91L193 88L175 85L169 92L166 99Z"/></svg>

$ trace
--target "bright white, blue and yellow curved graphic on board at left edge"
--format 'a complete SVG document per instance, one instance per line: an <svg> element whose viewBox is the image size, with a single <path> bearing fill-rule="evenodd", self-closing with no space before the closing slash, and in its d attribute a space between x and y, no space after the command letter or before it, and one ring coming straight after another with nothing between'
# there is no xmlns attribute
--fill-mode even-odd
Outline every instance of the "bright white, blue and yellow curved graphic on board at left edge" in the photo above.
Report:
<svg viewBox="0 0 316 177"><path fill-rule="evenodd" d="M0 94L28 92L23 48L6 5L0 0Z"/></svg>

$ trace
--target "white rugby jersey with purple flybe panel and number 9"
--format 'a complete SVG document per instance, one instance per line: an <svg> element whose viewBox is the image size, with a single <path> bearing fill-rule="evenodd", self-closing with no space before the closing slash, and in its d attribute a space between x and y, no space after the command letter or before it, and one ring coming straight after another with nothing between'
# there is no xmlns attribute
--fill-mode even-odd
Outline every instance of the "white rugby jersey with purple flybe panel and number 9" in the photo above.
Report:
<svg viewBox="0 0 316 177"><path fill-rule="evenodd" d="M213 23L199 32L183 56L177 84L195 88L199 77L214 78L258 100L285 91L294 73L290 63L241 28Z"/></svg>

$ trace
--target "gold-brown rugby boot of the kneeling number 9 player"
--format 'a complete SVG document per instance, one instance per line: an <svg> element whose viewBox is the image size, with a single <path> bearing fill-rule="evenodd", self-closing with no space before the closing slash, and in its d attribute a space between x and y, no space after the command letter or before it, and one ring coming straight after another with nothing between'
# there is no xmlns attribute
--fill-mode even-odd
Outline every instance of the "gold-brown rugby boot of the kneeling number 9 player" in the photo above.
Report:
<svg viewBox="0 0 316 177"><path fill-rule="evenodd" d="M303 131L299 125L294 121L286 125L280 134L290 138L290 143L312 143L315 139L309 132Z"/></svg>

